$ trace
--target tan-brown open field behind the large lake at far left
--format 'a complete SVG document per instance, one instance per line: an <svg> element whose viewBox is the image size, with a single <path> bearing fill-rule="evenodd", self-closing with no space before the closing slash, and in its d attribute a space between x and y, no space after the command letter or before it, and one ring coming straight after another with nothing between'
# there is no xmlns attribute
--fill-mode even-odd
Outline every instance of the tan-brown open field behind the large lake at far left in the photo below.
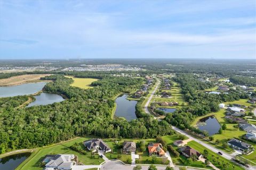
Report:
<svg viewBox="0 0 256 170"><path fill-rule="evenodd" d="M21 75L10 78L0 79L0 86L15 86L25 83L36 83L45 80L40 80L40 77L50 76L50 74L33 74L33 75Z"/></svg>

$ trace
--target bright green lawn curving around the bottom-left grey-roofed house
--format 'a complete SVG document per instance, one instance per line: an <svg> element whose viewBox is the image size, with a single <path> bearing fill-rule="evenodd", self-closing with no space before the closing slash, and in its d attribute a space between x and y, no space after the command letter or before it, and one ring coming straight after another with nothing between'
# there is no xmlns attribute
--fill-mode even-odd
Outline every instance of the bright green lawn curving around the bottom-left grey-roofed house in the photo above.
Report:
<svg viewBox="0 0 256 170"><path fill-rule="evenodd" d="M87 140L87 137L79 137L75 140L63 142L61 144L56 144L51 147L43 147L37 148L34 152L32 152L31 156L25 160L20 166L18 166L17 170L42 170L42 167L39 166L42 159L45 155L51 154L74 154L78 156L78 161L80 161L84 165L99 165L103 162L102 158L99 158L98 155L95 155L95 158L91 158L91 153L87 152L87 155L82 155L74 150L71 150L69 147L73 145L75 142L81 144L82 142Z"/></svg>

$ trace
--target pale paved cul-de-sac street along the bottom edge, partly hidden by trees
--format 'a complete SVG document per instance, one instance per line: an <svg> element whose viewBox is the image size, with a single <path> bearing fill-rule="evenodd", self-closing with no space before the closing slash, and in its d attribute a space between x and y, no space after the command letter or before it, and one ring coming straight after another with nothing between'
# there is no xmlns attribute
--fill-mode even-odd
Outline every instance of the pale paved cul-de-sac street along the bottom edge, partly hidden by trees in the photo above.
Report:
<svg viewBox="0 0 256 170"><path fill-rule="evenodd" d="M100 170L132 170L134 166L126 166L119 161L109 161L103 164ZM142 170L148 170L148 165L141 166ZM166 166L156 166L157 170L165 170ZM179 170L179 167L174 167L175 170ZM188 170L196 170L196 168L187 168Z"/></svg>

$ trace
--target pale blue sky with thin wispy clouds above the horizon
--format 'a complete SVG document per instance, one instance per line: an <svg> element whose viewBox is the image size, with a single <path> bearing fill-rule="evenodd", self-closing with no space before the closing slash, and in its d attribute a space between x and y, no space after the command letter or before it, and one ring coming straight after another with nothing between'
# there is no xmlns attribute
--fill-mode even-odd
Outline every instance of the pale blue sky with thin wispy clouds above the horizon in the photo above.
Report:
<svg viewBox="0 0 256 170"><path fill-rule="evenodd" d="M255 0L0 0L0 59L256 59Z"/></svg>

